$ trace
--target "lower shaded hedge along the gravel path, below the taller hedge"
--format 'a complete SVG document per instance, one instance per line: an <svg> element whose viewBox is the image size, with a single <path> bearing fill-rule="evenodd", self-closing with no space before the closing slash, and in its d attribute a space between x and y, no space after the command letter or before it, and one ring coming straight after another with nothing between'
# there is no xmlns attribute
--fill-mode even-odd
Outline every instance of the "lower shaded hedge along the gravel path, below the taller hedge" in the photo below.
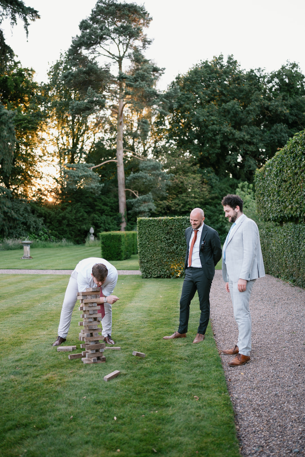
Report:
<svg viewBox="0 0 305 457"><path fill-rule="evenodd" d="M305 224L266 228L260 239L266 273L305 287Z"/></svg>

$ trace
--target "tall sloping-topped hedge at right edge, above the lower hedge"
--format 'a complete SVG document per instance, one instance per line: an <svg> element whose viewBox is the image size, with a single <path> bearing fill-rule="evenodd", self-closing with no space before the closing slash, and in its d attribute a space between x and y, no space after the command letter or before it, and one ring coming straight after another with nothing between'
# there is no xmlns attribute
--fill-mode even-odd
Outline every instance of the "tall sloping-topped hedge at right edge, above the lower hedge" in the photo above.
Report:
<svg viewBox="0 0 305 457"><path fill-rule="evenodd" d="M257 170L255 187L263 220L305 222L305 130Z"/></svg>

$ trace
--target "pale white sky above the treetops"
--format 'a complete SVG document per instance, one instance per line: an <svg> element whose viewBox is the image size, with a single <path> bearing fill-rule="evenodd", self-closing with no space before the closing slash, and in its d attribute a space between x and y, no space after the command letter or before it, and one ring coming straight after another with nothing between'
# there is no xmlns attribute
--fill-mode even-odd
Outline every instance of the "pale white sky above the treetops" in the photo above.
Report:
<svg viewBox="0 0 305 457"><path fill-rule="evenodd" d="M233 54L244 69L276 70L287 60L300 64L305 72L305 1L290 0L146 0L153 17L148 35L154 43L146 52L165 74L159 88L178 73L186 73L200 60ZM95 6L96 0L25 0L41 19L29 27L28 41L22 23L0 26L5 39L23 66L36 71L37 81L47 80L47 71L60 52L66 51L78 24Z"/></svg>

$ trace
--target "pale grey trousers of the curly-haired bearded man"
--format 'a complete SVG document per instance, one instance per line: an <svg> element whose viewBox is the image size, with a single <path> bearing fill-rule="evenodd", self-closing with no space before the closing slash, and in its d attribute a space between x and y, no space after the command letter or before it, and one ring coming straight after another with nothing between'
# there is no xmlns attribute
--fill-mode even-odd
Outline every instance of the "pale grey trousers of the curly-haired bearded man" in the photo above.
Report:
<svg viewBox="0 0 305 457"><path fill-rule="evenodd" d="M250 356L251 351L251 314L249 300L256 279L247 281L245 292L239 292L237 282L228 277L230 295L233 303L234 318L238 325L237 346L240 354Z"/></svg>

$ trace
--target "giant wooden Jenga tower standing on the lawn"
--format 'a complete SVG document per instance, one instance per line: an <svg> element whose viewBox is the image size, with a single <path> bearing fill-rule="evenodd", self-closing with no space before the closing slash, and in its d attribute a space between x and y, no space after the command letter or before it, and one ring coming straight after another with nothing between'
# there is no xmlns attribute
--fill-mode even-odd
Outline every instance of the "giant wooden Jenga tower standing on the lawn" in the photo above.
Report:
<svg viewBox="0 0 305 457"><path fill-rule="evenodd" d="M97 304L97 300L100 301L100 287L90 287L86 289L86 292L78 292L77 298L80 300L80 311L83 314L80 317L83 319L78 324L82 326L81 333L79 334L80 341L85 341L86 351L82 352L84 356L81 360L84 363L101 363L106 361L106 357L103 355L106 344L100 343L100 340L104 340L103 336L99 336L98 332L102 329L98 328L100 321L102 320L101 303Z"/></svg>

